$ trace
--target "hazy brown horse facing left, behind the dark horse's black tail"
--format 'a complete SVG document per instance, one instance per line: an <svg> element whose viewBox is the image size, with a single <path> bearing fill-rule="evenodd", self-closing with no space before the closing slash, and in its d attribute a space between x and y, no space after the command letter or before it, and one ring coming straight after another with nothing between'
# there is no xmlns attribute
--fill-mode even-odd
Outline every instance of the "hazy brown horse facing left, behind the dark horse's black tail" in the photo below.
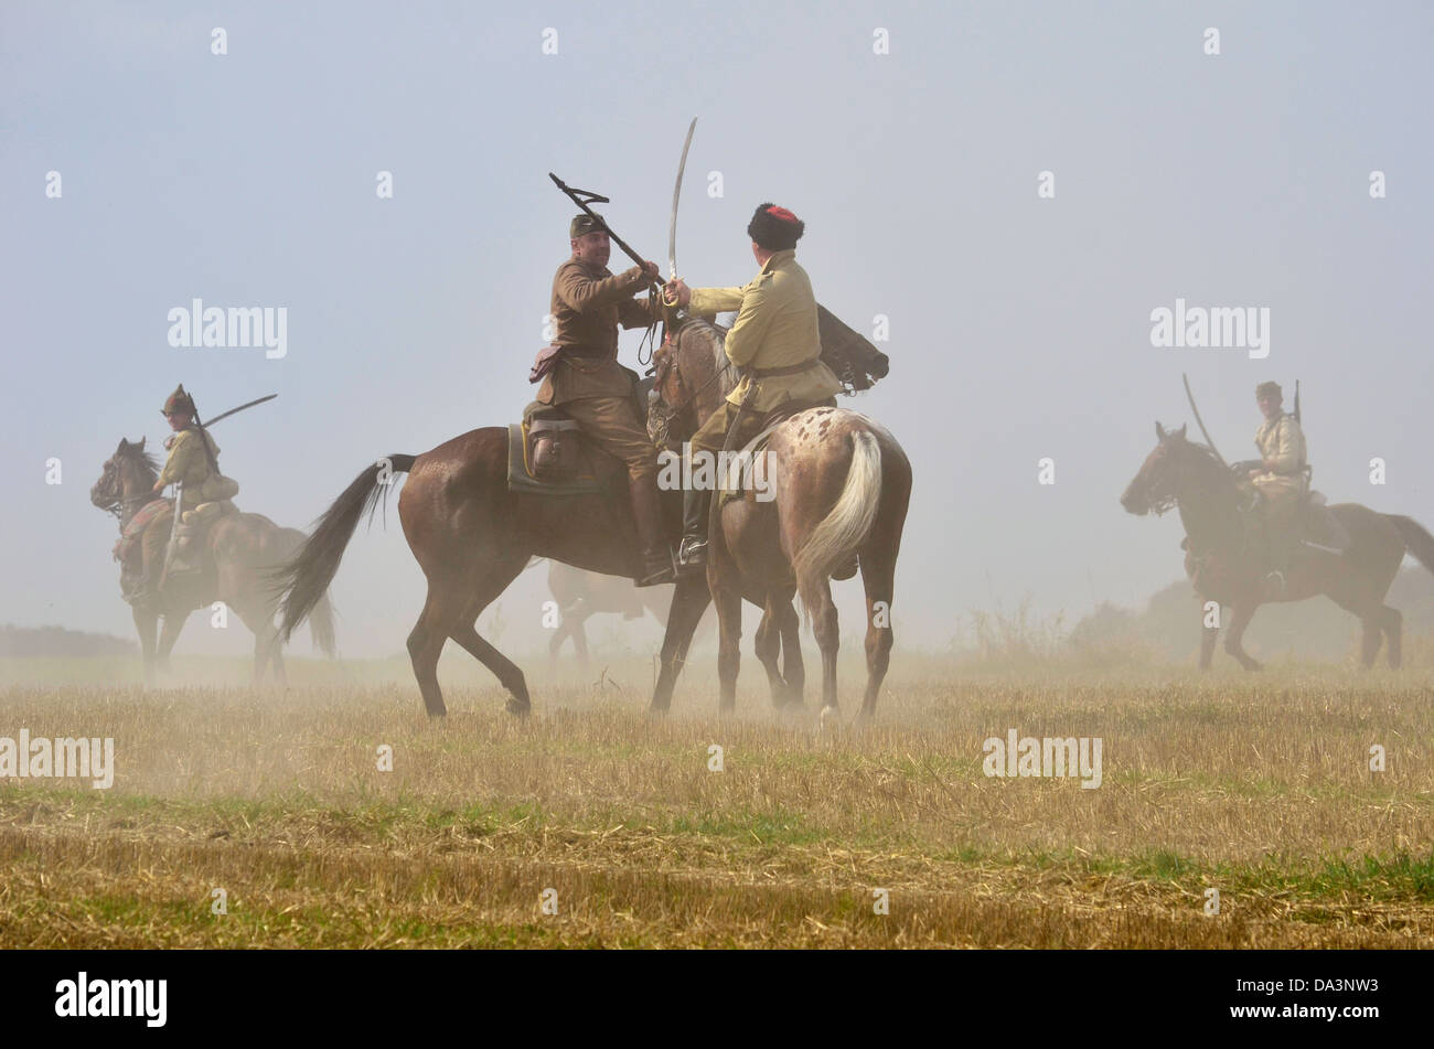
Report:
<svg viewBox="0 0 1434 1049"><path fill-rule="evenodd" d="M145 441L130 443L120 439L115 454L105 460L99 480L90 487L90 502L119 517L119 529L123 532L142 507L161 499L153 492L158 476L159 463L145 451ZM136 536L135 543L138 542ZM153 685L156 671L169 669L169 653L179 641L179 632L189 612L217 600L234 609L254 633L254 684L264 678L270 664L275 679L284 684L284 655L274 626L280 588L270 575L288 560L303 542L303 532L281 529L258 513L229 513L215 519L204 539L206 560L214 569L192 578L171 579L161 590L156 606L133 608L135 629L139 632L139 646L145 661L145 684ZM138 550L135 553L138 556ZM123 565L122 573L128 572L128 567ZM159 616L163 616L165 628L156 642ZM314 602L310 632L314 643L326 655L336 653L333 606L324 592L320 592Z"/></svg>

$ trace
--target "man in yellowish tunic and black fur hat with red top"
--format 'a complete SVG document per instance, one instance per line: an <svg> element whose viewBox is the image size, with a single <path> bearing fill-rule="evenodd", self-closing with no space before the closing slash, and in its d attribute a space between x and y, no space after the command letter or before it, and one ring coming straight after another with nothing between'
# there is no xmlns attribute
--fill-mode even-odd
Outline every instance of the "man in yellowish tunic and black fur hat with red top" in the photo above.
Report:
<svg viewBox="0 0 1434 1049"><path fill-rule="evenodd" d="M842 384L822 363L816 297L806 269L796 259L803 232L806 224L790 211L763 203L747 224L751 254L760 269L746 287L688 288L680 279L667 282L668 304L681 305L691 314L710 320L724 311L739 311L726 347L727 360L739 368L741 381L693 434L694 453L717 454L727 446L743 447L761 431L767 416L787 401L836 406ZM677 560L684 569L707 562L710 507L710 490L683 493L683 545Z"/></svg>

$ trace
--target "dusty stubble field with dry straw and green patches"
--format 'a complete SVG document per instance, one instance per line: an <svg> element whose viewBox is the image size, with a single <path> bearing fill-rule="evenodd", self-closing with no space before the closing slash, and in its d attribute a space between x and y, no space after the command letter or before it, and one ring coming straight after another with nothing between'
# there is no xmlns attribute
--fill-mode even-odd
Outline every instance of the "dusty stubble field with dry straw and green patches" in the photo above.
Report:
<svg viewBox="0 0 1434 1049"><path fill-rule="evenodd" d="M0 781L0 946L1434 946L1424 671L906 661L862 734L779 722L750 661L736 719L697 665L654 721L647 674L526 722L476 684L437 724L407 684L3 686L0 737L113 737L118 771ZM1012 728L1100 737L1101 785L984 775Z"/></svg>

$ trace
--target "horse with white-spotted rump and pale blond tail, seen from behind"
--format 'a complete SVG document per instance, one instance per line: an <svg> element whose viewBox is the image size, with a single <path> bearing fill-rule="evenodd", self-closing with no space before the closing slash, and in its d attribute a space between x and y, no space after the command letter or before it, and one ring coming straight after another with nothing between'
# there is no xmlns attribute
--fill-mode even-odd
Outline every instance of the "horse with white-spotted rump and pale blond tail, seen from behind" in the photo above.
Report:
<svg viewBox="0 0 1434 1049"><path fill-rule="evenodd" d="M670 449L680 446L736 387L739 375L727 360L724 335L726 330L693 318L664 345L654 384L663 407L650 416L655 441ZM866 358L858 358L855 370L850 357L833 368L849 390L853 371L879 377L888 367L885 354L865 340L852 343L849 350L860 353L858 347L865 347ZM771 497L759 500L749 492L740 499L723 500L718 494L713 500L707 583L720 632L718 709L730 712L736 706L744 599L764 612L756 651L774 705L789 712L802 706L804 668L792 603L799 596L822 652L822 722L839 714L839 636L830 580L855 575L855 555L866 592L866 692L858 715L858 722L865 722L876 711L891 664L891 606L911 500L911 461L885 427L846 408L793 410L769 431L759 456L764 457ZM706 600L681 608L674 602L667 638L674 651L691 636L697 623L693 616L704 608ZM664 643L664 671L665 655ZM671 682L660 674L654 706L665 708L670 689Z"/></svg>

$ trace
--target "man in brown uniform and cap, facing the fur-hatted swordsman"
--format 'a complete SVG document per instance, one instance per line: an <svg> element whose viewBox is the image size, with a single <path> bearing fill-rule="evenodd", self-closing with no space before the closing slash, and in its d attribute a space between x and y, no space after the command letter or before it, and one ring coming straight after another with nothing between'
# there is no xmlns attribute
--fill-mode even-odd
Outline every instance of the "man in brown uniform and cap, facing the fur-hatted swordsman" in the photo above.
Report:
<svg viewBox="0 0 1434 1049"><path fill-rule="evenodd" d="M551 312L562 347L543 378L538 400L561 407L598 447L627 464L632 519L642 545L638 586L670 583L673 557L657 493L657 449L634 403L637 374L618 364L618 324L651 324L647 302L634 301L657 278L644 262L617 277L608 267L611 245L601 215L578 215L568 228L572 258L552 278Z"/></svg>

